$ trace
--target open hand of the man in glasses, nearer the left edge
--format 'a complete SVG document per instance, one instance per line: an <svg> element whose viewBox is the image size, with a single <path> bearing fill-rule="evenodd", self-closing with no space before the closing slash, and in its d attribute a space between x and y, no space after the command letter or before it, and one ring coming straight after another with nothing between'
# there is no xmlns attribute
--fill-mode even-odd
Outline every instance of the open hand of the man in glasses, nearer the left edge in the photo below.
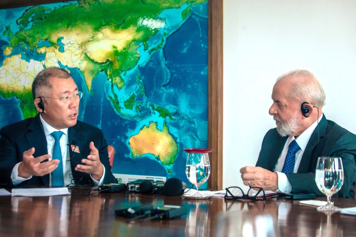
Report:
<svg viewBox="0 0 356 237"><path fill-rule="evenodd" d="M33 154L35 153L35 147L25 151L22 155L22 162L18 166L18 176L24 179L35 176L43 176L47 173L52 172L57 168L60 160L53 159L47 162L43 162L51 158L51 155L43 155L35 158Z"/></svg>

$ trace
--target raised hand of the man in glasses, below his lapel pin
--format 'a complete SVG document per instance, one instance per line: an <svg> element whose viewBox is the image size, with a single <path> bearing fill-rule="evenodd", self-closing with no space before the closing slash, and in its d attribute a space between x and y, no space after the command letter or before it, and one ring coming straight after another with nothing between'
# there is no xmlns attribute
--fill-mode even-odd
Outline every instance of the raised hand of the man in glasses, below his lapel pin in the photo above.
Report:
<svg viewBox="0 0 356 237"><path fill-rule="evenodd" d="M99 151L95 147L93 141L89 144L89 148L91 152L87 156L87 159L81 160L81 162L84 163L85 165L77 165L75 167L75 170L92 174L94 180L100 181L101 177L104 174L104 167L103 164L100 162Z"/></svg>

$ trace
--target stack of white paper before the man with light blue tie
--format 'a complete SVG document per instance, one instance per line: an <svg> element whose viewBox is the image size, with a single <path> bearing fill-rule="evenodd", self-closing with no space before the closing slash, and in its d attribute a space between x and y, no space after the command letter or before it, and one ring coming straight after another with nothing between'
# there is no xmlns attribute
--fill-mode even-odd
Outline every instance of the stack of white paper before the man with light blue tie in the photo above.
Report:
<svg viewBox="0 0 356 237"><path fill-rule="evenodd" d="M11 196L54 196L71 194L68 188L36 188L36 189L12 189Z"/></svg>

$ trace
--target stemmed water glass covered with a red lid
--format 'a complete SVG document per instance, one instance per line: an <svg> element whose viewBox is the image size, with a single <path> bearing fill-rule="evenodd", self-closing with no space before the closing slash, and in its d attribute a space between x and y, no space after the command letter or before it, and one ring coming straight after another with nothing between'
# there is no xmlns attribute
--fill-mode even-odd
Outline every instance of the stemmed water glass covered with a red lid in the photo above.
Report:
<svg viewBox="0 0 356 237"><path fill-rule="evenodd" d="M188 153L186 174L188 180L196 186L196 193L192 196L201 196L199 186L207 181L210 175L209 152L214 149L184 149Z"/></svg>

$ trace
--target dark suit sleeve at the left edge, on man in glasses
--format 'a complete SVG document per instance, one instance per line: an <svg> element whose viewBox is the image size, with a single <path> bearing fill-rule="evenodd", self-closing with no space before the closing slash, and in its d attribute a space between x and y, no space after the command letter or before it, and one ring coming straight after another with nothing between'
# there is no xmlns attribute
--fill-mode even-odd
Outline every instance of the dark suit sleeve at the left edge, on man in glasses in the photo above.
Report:
<svg viewBox="0 0 356 237"><path fill-rule="evenodd" d="M17 161L16 144L7 127L0 130L0 186L12 186L11 172Z"/></svg>

